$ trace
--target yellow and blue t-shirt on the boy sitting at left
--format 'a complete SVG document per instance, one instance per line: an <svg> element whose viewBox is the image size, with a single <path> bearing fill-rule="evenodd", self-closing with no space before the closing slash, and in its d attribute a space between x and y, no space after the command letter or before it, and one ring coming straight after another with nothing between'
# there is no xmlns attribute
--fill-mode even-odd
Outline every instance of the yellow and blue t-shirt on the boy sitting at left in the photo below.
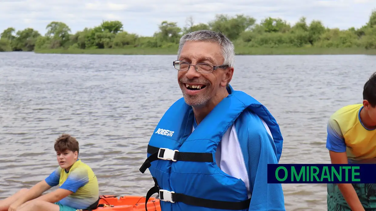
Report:
<svg viewBox="0 0 376 211"><path fill-rule="evenodd" d="M76 209L85 209L99 199L99 185L97 177L91 168L81 160L77 160L66 172L60 166L45 179L49 186L57 186L70 190L71 195L59 202Z"/></svg>

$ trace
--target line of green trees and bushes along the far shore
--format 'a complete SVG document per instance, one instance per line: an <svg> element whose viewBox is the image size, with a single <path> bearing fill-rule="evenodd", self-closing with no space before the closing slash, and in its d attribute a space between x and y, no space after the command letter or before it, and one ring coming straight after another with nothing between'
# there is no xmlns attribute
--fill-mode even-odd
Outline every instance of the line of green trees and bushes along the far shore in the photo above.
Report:
<svg viewBox="0 0 376 211"><path fill-rule="evenodd" d="M18 30L9 27L0 34L0 51L34 51L37 49L97 49L97 48L171 48L176 47L180 37L196 30L221 31L235 46L244 47L306 47L376 49L376 10L360 28L347 30L324 27L319 20L309 24L302 17L291 25L280 18L265 18L259 24L246 15L215 15L208 23L194 24L187 18L186 26L177 22L163 21L153 36L139 36L123 28L121 21L102 21L100 25L84 28L71 34L64 22L53 21L47 33L40 34L33 28Z"/></svg>

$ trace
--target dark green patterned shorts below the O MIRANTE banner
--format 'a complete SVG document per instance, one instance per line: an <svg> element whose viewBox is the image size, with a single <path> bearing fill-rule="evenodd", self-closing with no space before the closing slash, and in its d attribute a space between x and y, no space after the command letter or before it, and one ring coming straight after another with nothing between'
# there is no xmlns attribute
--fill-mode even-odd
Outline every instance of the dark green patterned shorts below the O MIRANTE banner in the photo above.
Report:
<svg viewBox="0 0 376 211"><path fill-rule="evenodd" d="M352 184L365 211L376 211L376 184ZM337 184L327 184L328 211L351 211Z"/></svg>

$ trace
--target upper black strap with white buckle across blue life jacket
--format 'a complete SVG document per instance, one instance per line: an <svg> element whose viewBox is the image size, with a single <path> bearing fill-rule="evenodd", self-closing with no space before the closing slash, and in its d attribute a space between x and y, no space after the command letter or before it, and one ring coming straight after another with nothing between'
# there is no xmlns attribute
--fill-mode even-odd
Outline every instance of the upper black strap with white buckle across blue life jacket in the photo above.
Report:
<svg viewBox="0 0 376 211"><path fill-rule="evenodd" d="M212 153L184 153L179 152L178 150L170 150L166 148L158 148L147 145L147 153L150 155L141 168L139 169L141 173L145 173L146 169L149 168L152 164L151 162L162 159L162 160L172 160L176 162L177 160L182 161L194 161L194 162L213 162Z"/></svg>

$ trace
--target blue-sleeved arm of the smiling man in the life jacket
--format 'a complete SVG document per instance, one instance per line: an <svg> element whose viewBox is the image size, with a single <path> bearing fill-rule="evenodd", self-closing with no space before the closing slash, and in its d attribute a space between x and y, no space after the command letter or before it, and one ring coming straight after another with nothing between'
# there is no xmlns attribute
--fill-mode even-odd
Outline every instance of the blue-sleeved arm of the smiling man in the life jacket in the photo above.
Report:
<svg viewBox="0 0 376 211"><path fill-rule="evenodd" d="M252 190L249 211L285 211L282 185L267 182L268 163L278 163L273 139L265 129L249 127L248 130L249 181Z"/></svg>

